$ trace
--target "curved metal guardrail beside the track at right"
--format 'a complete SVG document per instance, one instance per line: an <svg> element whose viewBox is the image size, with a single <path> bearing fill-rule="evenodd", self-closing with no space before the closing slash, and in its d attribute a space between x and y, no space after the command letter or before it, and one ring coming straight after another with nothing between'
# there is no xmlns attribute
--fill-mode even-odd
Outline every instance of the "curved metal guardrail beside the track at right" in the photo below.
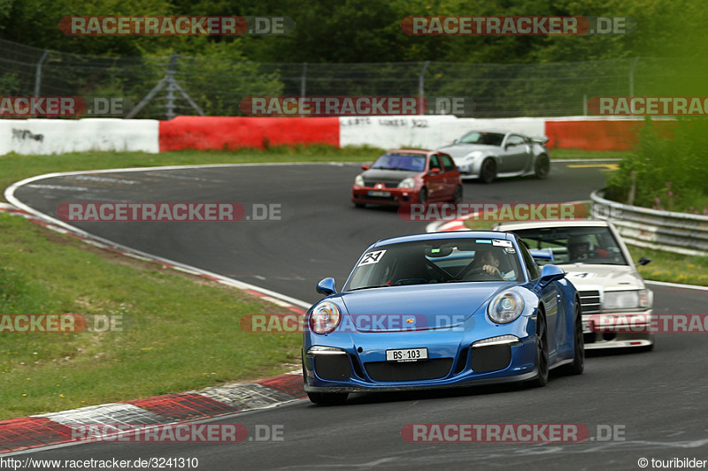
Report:
<svg viewBox="0 0 708 471"><path fill-rule="evenodd" d="M708 256L708 217L629 206L603 195L604 190L590 194L592 216L611 221L628 244Z"/></svg>

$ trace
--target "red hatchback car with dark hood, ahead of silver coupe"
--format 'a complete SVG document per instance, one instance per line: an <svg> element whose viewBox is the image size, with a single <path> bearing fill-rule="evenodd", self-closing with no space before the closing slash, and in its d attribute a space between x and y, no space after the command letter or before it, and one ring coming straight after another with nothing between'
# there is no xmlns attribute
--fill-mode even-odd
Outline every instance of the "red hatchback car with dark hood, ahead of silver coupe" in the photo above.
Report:
<svg viewBox="0 0 708 471"><path fill-rule="evenodd" d="M395 204L462 201L458 166L439 150L389 150L373 165L362 165L351 186L351 201Z"/></svg>

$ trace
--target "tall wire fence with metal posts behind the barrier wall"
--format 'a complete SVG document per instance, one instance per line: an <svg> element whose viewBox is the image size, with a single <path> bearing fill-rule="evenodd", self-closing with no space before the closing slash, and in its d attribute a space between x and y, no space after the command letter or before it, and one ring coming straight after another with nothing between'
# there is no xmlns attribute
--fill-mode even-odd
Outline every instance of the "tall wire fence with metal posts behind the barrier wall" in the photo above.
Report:
<svg viewBox="0 0 708 471"><path fill-rule="evenodd" d="M543 64L97 57L0 40L1 96L121 97L136 107L131 118L240 116L249 96L471 97L473 108L460 116L577 116L588 114L594 96L675 95L666 87L677 74L690 78L696 70L686 60L654 57Z"/></svg>

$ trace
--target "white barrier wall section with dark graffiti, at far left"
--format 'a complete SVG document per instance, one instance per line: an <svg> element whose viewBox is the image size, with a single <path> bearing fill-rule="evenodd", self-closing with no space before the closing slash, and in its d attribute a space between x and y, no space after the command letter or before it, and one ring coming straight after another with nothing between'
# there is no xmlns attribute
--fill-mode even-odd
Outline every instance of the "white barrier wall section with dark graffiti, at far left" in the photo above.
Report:
<svg viewBox="0 0 708 471"><path fill-rule="evenodd" d="M158 153L154 119L0 119L0 155L51 155L89 150Z"/></svg>

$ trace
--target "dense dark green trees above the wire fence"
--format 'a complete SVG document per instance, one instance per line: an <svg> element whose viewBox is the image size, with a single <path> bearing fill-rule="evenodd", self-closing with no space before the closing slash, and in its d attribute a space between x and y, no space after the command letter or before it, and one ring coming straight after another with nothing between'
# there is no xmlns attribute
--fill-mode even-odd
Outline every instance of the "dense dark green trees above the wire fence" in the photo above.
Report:
<svg viewBox="0 0 708 471"><path fill-rule="evenodd" d="M258 62L566 62L642 56L704 57L704 0L0 0L0 38L65 52L151 56L165 49L204 53L200 38L67 36L65 16L288 16L286 36L212 37L232 58ZM633 34L615 36L409 36L415 15L628 16ZM702 35L704 37L704 35ZM220 49L212 49L221 54Z"/></svg>

